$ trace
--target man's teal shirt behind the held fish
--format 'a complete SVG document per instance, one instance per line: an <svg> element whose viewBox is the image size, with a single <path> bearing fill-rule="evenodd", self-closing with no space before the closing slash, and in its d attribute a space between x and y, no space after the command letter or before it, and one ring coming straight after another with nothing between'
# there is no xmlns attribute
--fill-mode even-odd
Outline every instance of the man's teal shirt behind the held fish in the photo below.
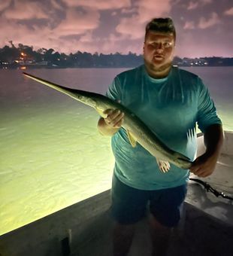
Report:
<svg viewBox="0 0 233 256"><path fill-rule="evenodd" d="M195 125L204 132L207 126L221 123L213 100L201 79L182 69L172 67L166 78L151 78L143 66L114 78L107 90L110 99L120 99L169 148L195 159L197 142L190 131ZM156 158L141 145L129 142L126 130L112 136L115 157L114 174L123 183L142 190L158 190L185 184L188 169L171 164L169 172L160 171Z"/></svg>

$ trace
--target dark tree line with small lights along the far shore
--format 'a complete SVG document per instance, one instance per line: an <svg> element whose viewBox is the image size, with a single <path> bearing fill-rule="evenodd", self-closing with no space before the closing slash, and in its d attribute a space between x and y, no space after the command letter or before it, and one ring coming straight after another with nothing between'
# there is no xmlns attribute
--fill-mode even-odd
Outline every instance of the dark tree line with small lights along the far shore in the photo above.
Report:
<svg viewBox="0 0 233 256"><path fill-rule="evenodd" d="M40 64L48 67L74 67L74 68L118 68L135 67L143 63L143 56L129 52L122 53L59 53L53 48L40 48L34 50L32 46L18 44L17 47L12 41L11 46L5 45L0 48L1 66L22 66ZM44 64L43 64L44 63ZM203 58L174 57L174 65L178 66L233 66L233 58L222 58L218 56Z"/></svg>

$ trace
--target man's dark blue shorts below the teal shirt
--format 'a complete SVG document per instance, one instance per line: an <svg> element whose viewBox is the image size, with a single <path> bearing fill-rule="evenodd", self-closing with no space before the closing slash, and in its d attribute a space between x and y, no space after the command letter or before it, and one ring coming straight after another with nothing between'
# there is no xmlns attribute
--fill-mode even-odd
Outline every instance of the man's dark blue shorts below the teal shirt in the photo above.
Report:
<svg viewBox="0 0 233 256"><path fill-rule="evenodd" d="M180 221L180 206L186 191L186 184L162 190L138 190L123 184L113 175L111 213L120 224L134 224L144 218L149 206L160 224L174 227Z"/></svg>

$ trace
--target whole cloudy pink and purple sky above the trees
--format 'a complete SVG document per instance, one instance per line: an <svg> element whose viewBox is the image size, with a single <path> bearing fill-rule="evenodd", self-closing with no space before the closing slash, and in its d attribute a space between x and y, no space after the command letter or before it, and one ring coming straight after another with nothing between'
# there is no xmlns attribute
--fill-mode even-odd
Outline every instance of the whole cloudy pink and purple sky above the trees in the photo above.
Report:
<svg viewBox="0 0 233 256"><path fill-rule="evenodd" d="M177 56L233 56L232 0L0 0L0 47L139 54L153 17L174 19Z"/></svg>

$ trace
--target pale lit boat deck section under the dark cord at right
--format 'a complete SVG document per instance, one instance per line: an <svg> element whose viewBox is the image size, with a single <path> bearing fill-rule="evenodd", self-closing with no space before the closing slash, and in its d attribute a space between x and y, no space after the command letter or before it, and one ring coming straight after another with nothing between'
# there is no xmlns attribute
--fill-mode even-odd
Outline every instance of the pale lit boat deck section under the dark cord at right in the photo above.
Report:
<svg viewBox="0 0 233 256"><path fill-rule="evenodd" d="M190 178L198 178L190 175ZM202 181L225 195L233 197L233 156L221 154L216 166L216 171L207 178L200 178ZM224 221L233 226L233 201L221 196L216 197L213 193L207 192L204 186L189 181L189 190L186 195L186 203L197 207L201 211Z"/></svg>

